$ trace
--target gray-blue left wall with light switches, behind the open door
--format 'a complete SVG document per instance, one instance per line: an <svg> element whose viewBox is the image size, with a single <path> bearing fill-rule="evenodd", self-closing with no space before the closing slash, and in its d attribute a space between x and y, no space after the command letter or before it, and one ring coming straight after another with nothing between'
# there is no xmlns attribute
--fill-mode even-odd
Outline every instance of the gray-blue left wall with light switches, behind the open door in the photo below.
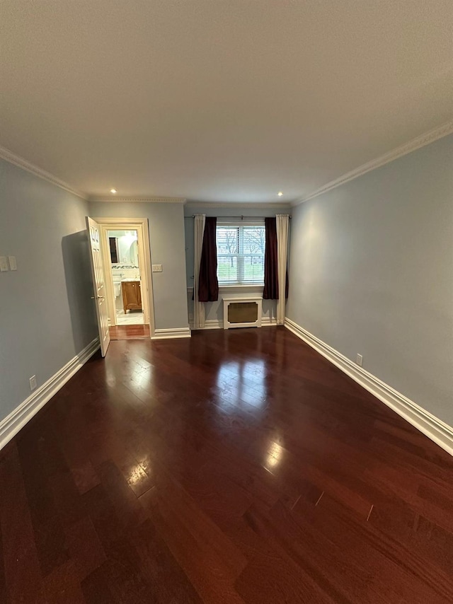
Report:
<svg viewBox="0 0 453 604"><path fill-rule="evenodd" d="M0 160L0 421L97 335L85 230L88 205Z"/></svg>

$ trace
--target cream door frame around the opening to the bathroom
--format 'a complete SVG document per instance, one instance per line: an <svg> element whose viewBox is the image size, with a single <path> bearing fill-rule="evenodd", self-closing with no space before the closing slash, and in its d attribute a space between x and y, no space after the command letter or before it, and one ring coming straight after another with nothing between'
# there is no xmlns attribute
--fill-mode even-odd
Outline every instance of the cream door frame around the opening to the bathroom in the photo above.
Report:
<svg viewBox="0 0 453 604"><path fill-rule="evenodd" d="M138 236L138 248L139 248L139 265L140 265L140 279L142 280L142 302L143 302L143 313L144 319L148 320L149 323L149 336L153 337L155 332L154 327L154 298L152 290L152 273L151 273L151 247L149 244L149 223L147 218L95 218L93 217L101 228L101 250L103 256L104 273L107 272L108 267L108 278L105 279L107 290L108 290L108 305L109 313L112 310L111 305L113 304L113 310L115 310L115 291L113 288L113 275L110 269L110 251L108 249L108 231L137 231ZM112 315L115 317L115 313ZM116 323L116 321L115 321Z"/></svg>

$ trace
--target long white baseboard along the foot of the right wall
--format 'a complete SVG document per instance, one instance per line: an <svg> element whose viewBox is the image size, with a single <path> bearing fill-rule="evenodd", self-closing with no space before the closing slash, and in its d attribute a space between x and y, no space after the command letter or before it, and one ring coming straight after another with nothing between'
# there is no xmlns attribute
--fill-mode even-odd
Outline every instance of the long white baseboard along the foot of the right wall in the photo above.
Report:
<svg viewBox="0 0 453 604"><path fill-rule="evenodd" d="M435 417L435 415L417 405L413 400L398 393L394 388L391 388L391 386L373 376L372 373L350 361L338 350L307 332L303 327L294 323L294 321L286 318L285 327L297 335L297 337L303 339L316 352L325 356L328 361L331 361L331 363L340 368L341 371L372 393L372 395L384 402L385 405L401 415L401 417L415 426L420 432L423 432L429 439L445 449L450 455L453 455L452 426L445 424L445 422L442 422L442 419Z"/></svg>

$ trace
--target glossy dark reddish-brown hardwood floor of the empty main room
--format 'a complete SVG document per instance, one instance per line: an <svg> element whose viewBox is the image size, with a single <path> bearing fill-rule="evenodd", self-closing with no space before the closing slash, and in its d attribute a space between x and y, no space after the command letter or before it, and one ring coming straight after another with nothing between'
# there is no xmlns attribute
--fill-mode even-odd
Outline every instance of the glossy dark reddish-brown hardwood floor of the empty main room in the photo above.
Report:
<svg viewBox="0 0 453 604"><path fill-rule="evenodd" d="M283 327L113 342L0 497L1 603L453 601L453 458Z"/></svg>

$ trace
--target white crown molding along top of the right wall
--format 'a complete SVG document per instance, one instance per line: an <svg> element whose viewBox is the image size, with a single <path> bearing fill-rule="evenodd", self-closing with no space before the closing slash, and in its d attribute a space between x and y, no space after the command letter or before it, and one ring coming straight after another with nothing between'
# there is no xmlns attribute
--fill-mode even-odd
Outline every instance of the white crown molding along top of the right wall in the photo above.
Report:
<svg viewBox="0 0 453 604"><path fill-rule="evenodd" d="M421 147L424 147L425 145L429 145L430 143L437 141L437 139L442 139L443 137L447 137L448 134L452 134L452 133L453 133L453 120L451 120L450 122L446 122L445 124L442 124L442 126L434 128L434 129L430 130L429 132L420 134L419 137L416 137L415 139L412 139L408 143L405 143L399 147L396 147L396 149L393 149L392 151L389 151L388 153L384 153L384 155L379 156L376 159L372 159L372 161L363 163L358 168L355 168L355 170L351 170L350 172L343 174L343 176L340 176L340 178L331 180L331 182L328 182L326 185L323 185L323 187L316 189L316 191L310 193L309 195L306 195L306 197L300 197L296 201L292 202L292 206L294 207L294 206L303 204L304 202L308 202L309 199L313 199L314 197L318 197L318 195L331 191L332 189L336 189L336 187L339 187L340 185L344 185L346 182L349 182L350 180L354 180L355 178L358 178L359 176L362 176L362 175L366 174L367 172L371 172L371 170L376 170L376 168L380 168L382 165L385 165L386 163L390 163L391 161L394 161L394 160L398 159L399 157L402 157L403 155L412 153L412 151L416 151L417 149L420 149Z"/></svg>

